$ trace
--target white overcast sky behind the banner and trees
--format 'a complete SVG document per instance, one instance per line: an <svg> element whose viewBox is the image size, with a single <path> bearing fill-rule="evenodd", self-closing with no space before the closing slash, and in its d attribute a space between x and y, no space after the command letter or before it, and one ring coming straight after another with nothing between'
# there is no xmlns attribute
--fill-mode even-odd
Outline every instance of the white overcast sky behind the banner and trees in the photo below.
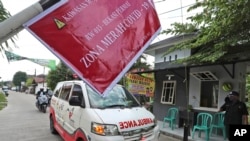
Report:
<svg viewBox="0 0 250 141"><path fill-rule="evenodd" d="M38 2L38 0L1 0L4 7L12 14L24 10L32 4ZM181 6L187 6L194 4L195 0L154 0L157 13L159 15L162 29L167 29L173 22L182 22L187 16L193 13L186 13L184 8L182 11ZM165 39L165 35L158 36L154 42L158 42ZM59 59L54 56L45 46L43 46L35 37L33 37L28 31L23 30L18 34L18 41L16 44L20 48L14 48L13 53L18 55L36 58L36 59L54 59L59 62ZM13 45L12 45L13 46ZM152 58L149 61L153 61ZM153 62L150 62L153 63ZM10 62L8 63L2 55L0 55L0 80L12 80L13 75L17 71L25 71L28 74L34 74L35 70L37 74L44 72L44 67L32 63L27 60ZM45 70L45 73L48 69Z"/></svg>

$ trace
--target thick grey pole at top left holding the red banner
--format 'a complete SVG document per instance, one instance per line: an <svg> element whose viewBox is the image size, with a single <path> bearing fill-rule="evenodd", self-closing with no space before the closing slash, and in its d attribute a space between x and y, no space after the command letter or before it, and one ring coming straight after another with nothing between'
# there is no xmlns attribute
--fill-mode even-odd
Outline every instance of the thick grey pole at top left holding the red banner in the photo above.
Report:
<svg viewBox="0 0 250 141"><path fill-rule="evenodd" d="M60 0L40 0L16 15L0 23L0 44L16 35L24 29L23 24L34 18L44 10L56 4Z"/></svg>

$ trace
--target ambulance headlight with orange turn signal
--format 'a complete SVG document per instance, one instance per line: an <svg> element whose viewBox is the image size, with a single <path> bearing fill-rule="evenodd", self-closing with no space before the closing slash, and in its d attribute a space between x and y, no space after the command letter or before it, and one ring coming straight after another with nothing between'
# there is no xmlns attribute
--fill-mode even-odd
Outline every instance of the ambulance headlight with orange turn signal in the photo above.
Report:
<svg viewBox="0 0 250 141"><path fill-rule="evenodd" d="M92 122L91 132L102 136L116 136L119 135L118 128L112 124L99 124Z"/></svg>

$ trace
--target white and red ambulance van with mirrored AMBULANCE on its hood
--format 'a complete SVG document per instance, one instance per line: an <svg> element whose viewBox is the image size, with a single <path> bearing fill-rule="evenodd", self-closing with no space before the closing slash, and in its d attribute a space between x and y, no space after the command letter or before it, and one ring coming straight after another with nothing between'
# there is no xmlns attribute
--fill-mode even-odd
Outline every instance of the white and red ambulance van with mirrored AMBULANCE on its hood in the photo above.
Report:
<svg viewBox="0 0 250 141"><path fill-rule="evenodd" d="M65 141L157 141L159 135L154 115L123 86L102 97L80 80L57 84L50 130Z"/></svg>

